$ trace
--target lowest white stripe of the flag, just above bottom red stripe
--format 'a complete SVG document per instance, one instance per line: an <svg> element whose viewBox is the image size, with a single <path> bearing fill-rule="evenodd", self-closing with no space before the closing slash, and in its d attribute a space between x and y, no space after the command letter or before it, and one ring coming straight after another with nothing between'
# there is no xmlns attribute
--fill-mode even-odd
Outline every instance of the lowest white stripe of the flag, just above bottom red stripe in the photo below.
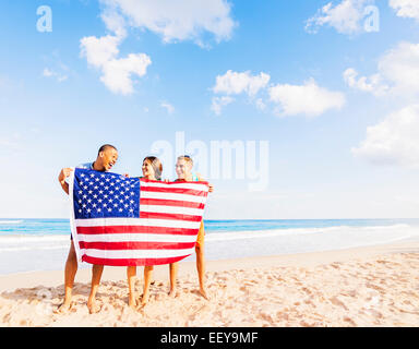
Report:
<svg viewBox="0 0 419 349"><path fill-rule="evenodd" d="M192 254L195 248L183 250L96 250L87 249L86 255L95 258L129 260L129 258L170 258Z"/></svg>

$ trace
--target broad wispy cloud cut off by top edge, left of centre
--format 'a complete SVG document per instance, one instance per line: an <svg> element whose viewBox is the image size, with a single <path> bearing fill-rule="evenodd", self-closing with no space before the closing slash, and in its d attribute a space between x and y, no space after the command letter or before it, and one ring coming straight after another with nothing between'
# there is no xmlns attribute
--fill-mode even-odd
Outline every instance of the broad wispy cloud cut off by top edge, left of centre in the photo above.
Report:
<svg viewBox="0 0 419 349"><path fill-rule="evenodd" d="M202 34L213 34L216 41L230 38L235 22L226 0L101 0L108 22L122 28L121 17L130 26L163 36L165 43L192 39L202 45ZM117 12L118 15L111 13ZM109 26L110 26L109 25ZM110 28L108 26L108 28Z"/></svg>

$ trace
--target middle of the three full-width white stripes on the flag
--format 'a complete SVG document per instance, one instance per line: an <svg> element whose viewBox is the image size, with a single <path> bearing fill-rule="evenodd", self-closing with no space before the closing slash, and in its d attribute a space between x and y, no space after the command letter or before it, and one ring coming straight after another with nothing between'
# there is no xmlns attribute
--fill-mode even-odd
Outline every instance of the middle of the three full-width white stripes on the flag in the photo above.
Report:
<svg viewBox="0 0 419 349"><path fill-rule="evenodd" d="M196 236L169 233L79 233L79 240L85 242L195 242Z"/></svg>

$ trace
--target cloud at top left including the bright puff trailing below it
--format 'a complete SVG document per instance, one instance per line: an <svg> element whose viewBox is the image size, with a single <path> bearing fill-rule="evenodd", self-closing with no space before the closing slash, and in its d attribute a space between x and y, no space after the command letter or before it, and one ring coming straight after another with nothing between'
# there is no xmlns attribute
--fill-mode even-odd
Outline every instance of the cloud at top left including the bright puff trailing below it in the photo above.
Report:
<svg viewBox="0 0 419 349"><path fill-rule="evenodd" d="M118 58L119 46L129 27L148 29L164 41L192 39L204 46L202 35L211 33L218 43L228 39L235 22L226 0L100 0L100 14L106 36L81 39L81 56L103 72L100 81L112 92L129 95L134 92L133 76L144 76L152 60L145 53ZM171 109L168 109L169 112Z"/></svg>

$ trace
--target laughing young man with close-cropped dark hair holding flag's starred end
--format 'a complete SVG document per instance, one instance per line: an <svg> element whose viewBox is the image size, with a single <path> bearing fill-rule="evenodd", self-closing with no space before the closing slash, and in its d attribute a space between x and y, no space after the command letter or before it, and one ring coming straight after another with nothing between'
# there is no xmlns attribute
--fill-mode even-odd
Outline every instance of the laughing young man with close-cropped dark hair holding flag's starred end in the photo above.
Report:
<svg viewBox="0 0 419 349"><path fill-rule="evenodd" d="M118 160L118 151L113 145L105 144L103 145L98 153L96 160L94 163L82 164L76 168L92 169L95 171L107 172L113 167ZM65 181L70 177L72 169L63 168L58 176L58 181L61 184L62 190L69 194L69 183ZM64 313L71 309L71 298L72 290L74 285L75 274L77 272L77 257L75 254L73 237L71 237L71 246L69 255L65 262L65 273L64 273L64 287L65 296L63 303L58 308L57 312ZM91 296L88 297L87 306L91 313L99 311L98 306L95 303L96 292L99 287L101 273L104 272L103 265L93 265L92 267L92 289Z"/></svg>

